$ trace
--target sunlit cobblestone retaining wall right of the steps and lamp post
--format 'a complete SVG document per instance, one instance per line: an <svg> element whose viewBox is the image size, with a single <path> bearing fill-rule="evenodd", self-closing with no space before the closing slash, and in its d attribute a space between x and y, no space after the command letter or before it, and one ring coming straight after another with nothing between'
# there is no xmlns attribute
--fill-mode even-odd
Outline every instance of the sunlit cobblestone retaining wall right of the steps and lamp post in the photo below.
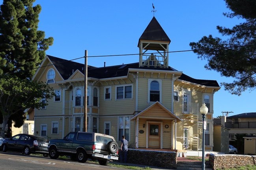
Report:
<svg viewBox="0 0 256 170"><path fill-rule="evenodd" d="M252 155L209 155L209 163L213 170L234 168L237 166L256 165L256 156Z"/></svg>

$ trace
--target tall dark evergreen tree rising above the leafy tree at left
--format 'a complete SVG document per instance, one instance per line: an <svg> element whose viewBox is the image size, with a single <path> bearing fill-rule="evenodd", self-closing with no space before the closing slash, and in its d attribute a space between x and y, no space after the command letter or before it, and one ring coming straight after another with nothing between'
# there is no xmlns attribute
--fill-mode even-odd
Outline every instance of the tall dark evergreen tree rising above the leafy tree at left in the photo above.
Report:
<svg viewBox="0 0 256 170"><path fill-rule="evenodd" d="M37 30L41 6L33 2L4 0L0 6L0 75L19 72L15 75L31 79L53 44L52 37Z"/></svg>

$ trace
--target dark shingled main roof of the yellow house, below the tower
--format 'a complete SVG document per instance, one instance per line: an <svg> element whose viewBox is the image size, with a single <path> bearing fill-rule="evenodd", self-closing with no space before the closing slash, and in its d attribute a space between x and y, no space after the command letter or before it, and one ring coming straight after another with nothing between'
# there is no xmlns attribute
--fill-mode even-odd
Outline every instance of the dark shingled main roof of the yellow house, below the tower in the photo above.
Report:
<svg viewBox="0 0 256 170"><path fill-rule="evenodd" d="M76 71L78 69L79 71L84 73L84 70L83 70L84 64L65 60L62 58L53 57L50 55L47 55L47 56L52 61L52 64L54 64L54 66L56 67L56 69L58 70L58 72L60 73L60 75L63 77L64 80L69 79L69 77L73 74L73 70ZM168 67L168 68L155 68L153 66L139 67L139 63L136 62L131 64L123 64L123 65L100 67L100 68L88 66L88 77L92 77L96 79L105 79L105 78L111 78L111 77L127 76L129 68L177 71L176 69L171 67ZM216 80L193 79L183 73L181 77L179 77L179 79L196 83L196 84L201 84L204 86L219 87L219 84L217 83Z"/></svg>

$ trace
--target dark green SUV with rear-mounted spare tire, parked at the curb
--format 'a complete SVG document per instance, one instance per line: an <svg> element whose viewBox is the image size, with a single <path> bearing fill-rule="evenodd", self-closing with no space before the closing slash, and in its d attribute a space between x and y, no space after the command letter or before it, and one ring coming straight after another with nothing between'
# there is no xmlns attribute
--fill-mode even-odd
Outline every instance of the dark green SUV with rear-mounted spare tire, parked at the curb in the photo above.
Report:
<svg viewBox="0 0 256 170"><path fill-rule="evenodd" d="M84 163L88 158L108 165L110 159L118 160L118 144L114 137L101 133L70 132L63 139L49 141L49 156L57 159L68 155L72 161Z"/></svg>

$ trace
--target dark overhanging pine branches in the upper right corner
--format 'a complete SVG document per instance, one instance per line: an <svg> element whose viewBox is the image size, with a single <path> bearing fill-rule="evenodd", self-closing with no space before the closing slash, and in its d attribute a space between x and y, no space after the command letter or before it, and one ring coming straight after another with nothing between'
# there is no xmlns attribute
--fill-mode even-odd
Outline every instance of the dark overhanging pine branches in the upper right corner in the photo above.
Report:
<svg viewBox="0 0 256 170"><path fill-rule="evenodd" d="M229 18L241 18L244 22L232 29L217 26L224 39L204 36L189 45L198 58L206 59L206 69L213 69L225 77L233 77L232 83L222 82L225 90L235 95L256 87L256 1L225 0L232 13Z"/></svg>

